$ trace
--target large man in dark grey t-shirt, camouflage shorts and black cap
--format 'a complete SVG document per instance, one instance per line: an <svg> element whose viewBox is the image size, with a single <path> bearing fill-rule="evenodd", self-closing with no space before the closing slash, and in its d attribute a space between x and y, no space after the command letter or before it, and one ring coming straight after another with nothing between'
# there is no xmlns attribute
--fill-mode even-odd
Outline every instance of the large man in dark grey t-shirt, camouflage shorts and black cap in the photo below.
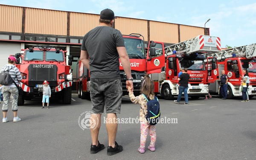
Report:
<svg viewBox="0 0 256 160"><path fill-rule="evenodd" d="M113 155L123 150L122 145L116 143L116 113L120 113L122 102L119 57L127 76L126 88L129 86L133 91L133 82L130 60L125 50L122 34L119 30L111 27L115 18L111 9L102 10L99 26L84 35L81 46L80 60L90 70L90 97L93 112L90 125L92 137L91 154L95 154L105 148L98 141L100 119L102 113L104 113L104 108L107 113L107 155Z"/></svg>

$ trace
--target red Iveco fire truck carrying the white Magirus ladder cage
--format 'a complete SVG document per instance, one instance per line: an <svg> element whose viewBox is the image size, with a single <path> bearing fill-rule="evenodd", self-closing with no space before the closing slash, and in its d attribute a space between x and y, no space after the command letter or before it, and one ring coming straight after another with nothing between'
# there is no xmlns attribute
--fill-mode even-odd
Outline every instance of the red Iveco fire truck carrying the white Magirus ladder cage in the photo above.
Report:
<svg viewBox="0 0 256 160"><path fill-rule="evenodd" d="M179 94L177 83L180 68L188 69L188 95L193 99L207 95L208 84L219 78L216 59L202 55L220 52L221 42L218 37L199 35L169 47L151 41L149 49L148 58L154 58L151 63L162 67L158 73L151 74L151 79L155 84L155 93L164 99L171 100Z"/></svg>

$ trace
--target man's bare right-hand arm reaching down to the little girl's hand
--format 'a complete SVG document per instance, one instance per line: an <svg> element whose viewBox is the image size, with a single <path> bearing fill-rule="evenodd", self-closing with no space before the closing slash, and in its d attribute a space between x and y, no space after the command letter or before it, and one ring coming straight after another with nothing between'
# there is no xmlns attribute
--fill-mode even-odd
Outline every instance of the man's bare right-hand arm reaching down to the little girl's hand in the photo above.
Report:
<svg viewBox="0 0 256 160"><path fill-rule="evenodd" d="M126 52L125 47L116 47L116 50L118 52L118 55L120 57L120 61L122 63L122 67L124 68L125 74L128 79L131 79L131 63L129 56ZM133 82L132 81L126 81L126 88L131 87L131 91L133 92Z"/></svg>

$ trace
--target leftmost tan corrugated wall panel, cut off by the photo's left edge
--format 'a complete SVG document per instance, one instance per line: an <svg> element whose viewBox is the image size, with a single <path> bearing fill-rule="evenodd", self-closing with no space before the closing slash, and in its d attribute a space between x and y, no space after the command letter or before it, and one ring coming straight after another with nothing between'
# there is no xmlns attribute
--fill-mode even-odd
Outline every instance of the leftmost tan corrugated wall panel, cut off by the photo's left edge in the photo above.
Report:
<svg viewBox="0 0 256 160"><path fill-rule="evenodd" d="M22 7L0 5L0 32L22 30Z"/></svg>

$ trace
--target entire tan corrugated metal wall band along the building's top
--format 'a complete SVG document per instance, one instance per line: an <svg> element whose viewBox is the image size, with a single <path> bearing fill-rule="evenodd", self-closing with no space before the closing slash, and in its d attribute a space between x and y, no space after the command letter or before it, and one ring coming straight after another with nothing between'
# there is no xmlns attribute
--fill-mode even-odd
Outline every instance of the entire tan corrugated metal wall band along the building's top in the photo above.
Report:
<svg viewBox="0 0 256 160"><path fill-rule="evenodd" d="M25 16L24 26L22 26L23 16ZM98 24L99 15L96 14L0 5L0 32L20 34L24 29L23 34L83 37ZM127 17L117 17L115 28L123 35L139 33L144 36L145 41L154 40L171 44L204 35L203 27Z"/></svg>

